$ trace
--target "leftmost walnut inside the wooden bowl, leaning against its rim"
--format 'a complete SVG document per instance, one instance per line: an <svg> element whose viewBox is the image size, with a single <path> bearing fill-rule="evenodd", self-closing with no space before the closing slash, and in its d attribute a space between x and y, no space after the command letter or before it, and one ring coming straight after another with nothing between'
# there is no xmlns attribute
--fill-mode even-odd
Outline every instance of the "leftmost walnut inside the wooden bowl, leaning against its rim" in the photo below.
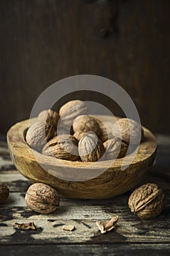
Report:
<svg viewBox="0 0 170 256"><path fill-rule="evenodd" d="M51 124L45 121L36 121L28 128L26 133L26 142L28 146L40 151L48 140L53 138L55 129Z"/></svg>

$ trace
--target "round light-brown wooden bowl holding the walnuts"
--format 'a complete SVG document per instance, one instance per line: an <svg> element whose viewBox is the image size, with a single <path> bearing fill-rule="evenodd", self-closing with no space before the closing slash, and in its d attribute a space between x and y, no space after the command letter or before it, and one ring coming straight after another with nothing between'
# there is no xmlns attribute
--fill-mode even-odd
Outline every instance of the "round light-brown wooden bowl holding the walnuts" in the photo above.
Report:
<svg viewBox="0 0 170 256"><path fill-rule="evenodd" d="M107 122L110 120L110 116L101 117ZM122 159L116 159L113 164L112 160L99 161L99 167L90 162L58 160L33 151L28 146L25 137L29 122L30 120L21 121L7 132L7 143L12 161L20 173L31 182L49 184L55 187L63 197L99 199L121 195L141 181L155 158L157 148L155 137L152 132L143 127L144 140L132 162L131 154ZM128 167L122 170L122 166ZM83 175L86 173L89 177L90 173L95 172L97 175L95 178L93 176L83 181L72 181L72 178L70 178L71 181L68 180L70 173L72 173L71 177L78 177L79 173Z"/></svg>

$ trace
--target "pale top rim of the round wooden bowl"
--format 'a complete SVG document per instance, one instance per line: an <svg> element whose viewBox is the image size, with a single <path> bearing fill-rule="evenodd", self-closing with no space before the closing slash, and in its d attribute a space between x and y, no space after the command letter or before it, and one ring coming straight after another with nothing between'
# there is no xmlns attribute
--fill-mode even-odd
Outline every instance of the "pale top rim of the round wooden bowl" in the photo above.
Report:
<svg viewBox="0 0 170 256"><path fill-rule="evenodd" d="M104 116L104 115L93 115L96 116L96 118L102 117L102 118L109 118L111 116ZM117 117L120 118L120 117ZM69 165L69 168L77 167L77 168L85 168L89 170L96 169L95 163L96 162L80 162L80 161L69 161L64 159L57 159L55 157L46 156L45 154L41 154L37 151L35 151L33 148L28 146L25 140L26 130L30 126L30 124L37 121L37 118L31 118L26 119L24 121L20 121L17 124L14 124L9 131L7 132L7 143L10 148L10 151L12 153L18 154L20 152L20 155L22 155L24 158L32 159L35 161L35 156L38 157L40 165L44 164L44 162L47 163L47 165L58 165L60 167L61 165ZM131 162L131 165L135 165L138 162L143 162L149 157L152 156L152 154L155 153L157 148L157 143L155 140L155 136L150 132L149 129L142 127L144 129L144 140L139 145L138 151L136 153L136 156L134 157L133 161ZM27 154L26 154L27 152ZM35 155L35 156L34 156ZM42 158L43 156L43 158ZM41 159L42 162L41 162ZM104 167L108 168L110 167L125 167L126 165L129 165L129 161L131 161L131 154L128 154L127 156L115 159L113 165L112 159L111 160L101 160L98 161L101 163L101 168ZM123 165L124 163L124 165ZM75 166L76 165L76 166ZM100 169L100 167L98 167ZM109 170L109 169L108 169Z"/></svg>

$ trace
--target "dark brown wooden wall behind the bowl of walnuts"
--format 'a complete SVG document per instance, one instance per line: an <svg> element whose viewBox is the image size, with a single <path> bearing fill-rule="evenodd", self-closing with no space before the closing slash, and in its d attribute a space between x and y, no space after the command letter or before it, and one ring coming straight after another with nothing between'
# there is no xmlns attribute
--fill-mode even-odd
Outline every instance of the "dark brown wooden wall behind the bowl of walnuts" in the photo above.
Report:
<svg viewBox="0 0 170 256"><path fill-rule="evenodd" d="M144 126L169 132L169 10L169 0L1 0L0 133L47 86L80 74L114 80Z"/></svg>

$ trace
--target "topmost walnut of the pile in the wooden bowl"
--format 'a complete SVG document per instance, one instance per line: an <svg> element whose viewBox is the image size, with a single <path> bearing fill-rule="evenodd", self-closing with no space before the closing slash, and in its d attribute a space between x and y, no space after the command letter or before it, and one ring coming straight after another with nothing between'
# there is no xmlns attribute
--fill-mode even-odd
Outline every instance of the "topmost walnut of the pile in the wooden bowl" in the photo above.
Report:
<svg viewBox="0 0 170 256"><path fill-rule="evenodd" d="M71 100L64 104L60 110L59 115L61 121L66 127L71 127L72 122L77 116L84 115L88 112L88 107L85 102L79 99Z"/></svg>

